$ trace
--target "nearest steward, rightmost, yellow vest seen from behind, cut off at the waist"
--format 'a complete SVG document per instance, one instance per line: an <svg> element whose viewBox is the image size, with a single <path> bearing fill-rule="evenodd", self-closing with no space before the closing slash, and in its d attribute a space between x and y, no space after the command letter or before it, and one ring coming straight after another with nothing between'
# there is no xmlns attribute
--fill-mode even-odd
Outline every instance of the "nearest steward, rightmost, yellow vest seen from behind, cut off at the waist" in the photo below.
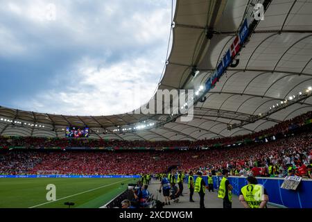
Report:
<svg viewBox="0 0 312 222"><path fill-rule="evenodd" d="M241 188L239 201L245 208L266 208L268 193L262 185L258 185L257 178L249 176L248 185Z"/></svg>

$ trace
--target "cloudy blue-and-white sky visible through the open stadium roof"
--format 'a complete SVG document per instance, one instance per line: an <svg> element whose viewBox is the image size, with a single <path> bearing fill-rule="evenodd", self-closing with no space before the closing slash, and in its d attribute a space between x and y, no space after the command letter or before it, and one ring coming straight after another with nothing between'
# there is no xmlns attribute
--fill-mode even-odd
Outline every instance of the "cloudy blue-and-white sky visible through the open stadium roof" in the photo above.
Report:
<svg viewBox="0 0 312 222"><path fill-rule="evenodd" d="M157 87L170 24L169 0L0 0L0 105L134 110Z"/></svg>

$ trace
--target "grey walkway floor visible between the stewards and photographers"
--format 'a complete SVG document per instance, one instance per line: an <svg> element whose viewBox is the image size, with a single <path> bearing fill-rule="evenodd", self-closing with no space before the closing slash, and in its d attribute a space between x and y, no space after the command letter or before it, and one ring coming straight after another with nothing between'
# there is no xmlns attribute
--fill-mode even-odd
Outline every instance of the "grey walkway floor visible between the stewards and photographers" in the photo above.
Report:
<svg viewBox="0 0 312 222"><path fill-rule="evenodd" d="M164 196L159 194L160 182L157 180L152 180L150 185L148 185L148 190L151 194L154 194L154 198L164 202ZM189 202L189 189L187 188L187 184L184 183L183 196L179 197L178 203L173 203L171 200L171 205L165 205L164 208L199 208L200 198L199 195L194 193L193 200L195 203ZM206 190L205 195L205 207L206 208L223 208L223 200L218 198L218 193L215 190L214 192L210 192ZM233 195L232 198L232 208L243 208L243 205L239 202L239 197ZM272 205L268 205L268 208L275 208Z"/></svg>

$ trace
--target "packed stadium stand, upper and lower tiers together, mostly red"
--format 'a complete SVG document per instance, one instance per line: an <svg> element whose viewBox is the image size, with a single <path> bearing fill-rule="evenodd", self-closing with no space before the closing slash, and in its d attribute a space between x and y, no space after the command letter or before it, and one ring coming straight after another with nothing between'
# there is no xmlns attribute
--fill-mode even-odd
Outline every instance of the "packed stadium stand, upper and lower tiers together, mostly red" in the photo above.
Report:
<svg viewBox="0 0 312 222"><path fill-rule="evenodd" d="M304 125L304 121L311 117L311 112L294 118L292 121L279 123L277 126L263 131L261 134L247 137L234 137L218 140L225 146L205 150L202 147L214 144L216 140L202 141L193 144L185 151L37 151L19 150L9 151L8 147L24 146L87 146L89 140L44 139L34 137L1 137L3 151L0 155L1 174L36 174L37 171L58 171L60 174L80 175L133 175L140 173L162 173L173 164L172 160L183 171L208 171L216 174L222 169L229 169L236 176L270 176L268 167L274 166L274 176L287 175L289 166L293 166L295 174L308 177L307 166L311 162L312 132L311 124ZM283 133L280 133L283 132ZM295 133L295 134L294 134ZM278 139L266 142L254 140L250 143L229 146L232 142L250 139L266 134L266 138L275 135ZM281 136L279 137L278 135ZM71 144L73 142L73 144ZM89 146L104 141L92 141ZM115 142L108 142L115 143ZM143 142L121 142L123 146L142 146ZM138 143L138 144L136 144ZM153 142L150 142L153 144ZM35 145L33 147L32 145ZM121 144L120 144L121 145ZM158 146L169 146L166 142ZM171 146L187 146L185 142L170 142ZM103 146L103 144L101 144ZM155 146L155 144L154 144ZM227 147L229 146L229 147ZM6 147L6 148L5 148ZM146 146L148 147L148 146ZM239 154L239 155L238 155ZM272 176L272 175L271 175Z"/></svg>

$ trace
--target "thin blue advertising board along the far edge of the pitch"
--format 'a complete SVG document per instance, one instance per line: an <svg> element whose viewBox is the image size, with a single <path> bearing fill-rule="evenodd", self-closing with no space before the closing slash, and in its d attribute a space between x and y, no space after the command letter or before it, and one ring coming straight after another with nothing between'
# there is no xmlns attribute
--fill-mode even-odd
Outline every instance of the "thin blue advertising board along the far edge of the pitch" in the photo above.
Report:
<svg viewBox="0 0 312 222"><path fill-rule="evenodd" d="M140 178L138 175L0 175L0 178Z"/></svg>

